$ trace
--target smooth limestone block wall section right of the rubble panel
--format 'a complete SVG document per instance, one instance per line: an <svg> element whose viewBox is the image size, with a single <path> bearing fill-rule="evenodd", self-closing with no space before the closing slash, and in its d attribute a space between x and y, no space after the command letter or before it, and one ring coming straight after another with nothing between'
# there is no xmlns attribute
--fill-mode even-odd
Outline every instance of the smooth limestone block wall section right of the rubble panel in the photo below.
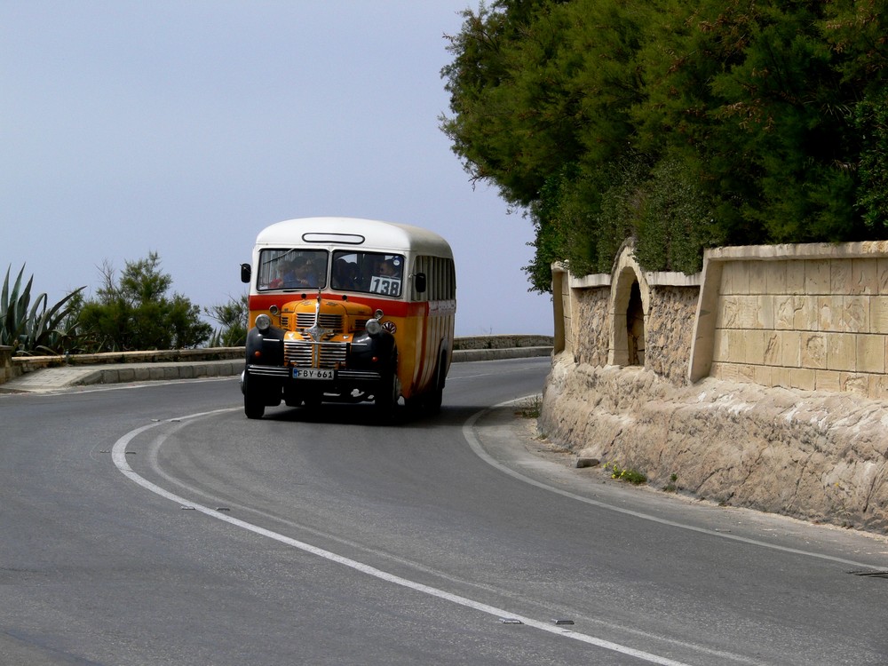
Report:
<svg viewBox="0 0 888 666"><path fill-rule="evenodd" d="M885 242L712 250L697 322L711 352L694 354L690 377L888 398L886 251Z"/></svg>

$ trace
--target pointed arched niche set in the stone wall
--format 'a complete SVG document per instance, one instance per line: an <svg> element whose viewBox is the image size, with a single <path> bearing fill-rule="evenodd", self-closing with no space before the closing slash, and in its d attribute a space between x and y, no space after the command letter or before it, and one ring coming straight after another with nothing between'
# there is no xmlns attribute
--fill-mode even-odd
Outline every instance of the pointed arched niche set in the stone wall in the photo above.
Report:
<svg viewBox="0 0 888 666"><path fill-rule="evenodd" d="M644 271L635 260L634 247L623 245L611 278L610 352L611 365L645 364L645 323L650 288Z"/></svg>

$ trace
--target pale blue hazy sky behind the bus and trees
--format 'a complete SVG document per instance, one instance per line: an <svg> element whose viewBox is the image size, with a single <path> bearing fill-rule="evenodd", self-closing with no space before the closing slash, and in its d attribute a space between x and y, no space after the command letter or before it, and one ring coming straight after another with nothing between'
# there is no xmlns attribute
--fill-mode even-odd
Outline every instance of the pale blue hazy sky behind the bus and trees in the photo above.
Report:
<svg viewBox="0 0 888 666"><path fill-rule="evenodd" d="M454 248L457 335L551 334L533 229L438 129L467 0L0 0L0 280L51 300L160 254L198 305L242 293L259 230L315 215Z"/></svg>

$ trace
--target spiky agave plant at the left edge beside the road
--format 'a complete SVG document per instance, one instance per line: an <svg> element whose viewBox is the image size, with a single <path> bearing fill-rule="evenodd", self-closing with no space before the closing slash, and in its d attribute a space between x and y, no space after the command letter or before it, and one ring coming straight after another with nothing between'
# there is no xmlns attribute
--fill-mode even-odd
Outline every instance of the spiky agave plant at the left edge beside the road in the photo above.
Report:
<svg viewBox="0 0 888 666"><path fill-rule="evenodd" d="M70 315L75 296L85 287L75 289L52 306L45 293L39 294L31 305L34 276L22 286L25 266L21 266L11 287L11 268L6 269L0 290L0 345L11 346L13 353L61 353L72 339L75 319Z"/></svg>

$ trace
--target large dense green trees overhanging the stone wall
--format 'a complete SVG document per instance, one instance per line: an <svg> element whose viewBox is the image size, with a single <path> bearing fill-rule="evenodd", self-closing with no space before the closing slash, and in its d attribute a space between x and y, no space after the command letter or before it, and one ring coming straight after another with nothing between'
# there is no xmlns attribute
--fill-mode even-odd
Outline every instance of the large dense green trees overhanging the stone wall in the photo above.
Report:
<svg viewBox="0 0 888 666"><path fill-rule="evenodd" d="M569 0L464 12L441 128L549 267L694 273L720 244L881 238L888 0Z"/></svg>

